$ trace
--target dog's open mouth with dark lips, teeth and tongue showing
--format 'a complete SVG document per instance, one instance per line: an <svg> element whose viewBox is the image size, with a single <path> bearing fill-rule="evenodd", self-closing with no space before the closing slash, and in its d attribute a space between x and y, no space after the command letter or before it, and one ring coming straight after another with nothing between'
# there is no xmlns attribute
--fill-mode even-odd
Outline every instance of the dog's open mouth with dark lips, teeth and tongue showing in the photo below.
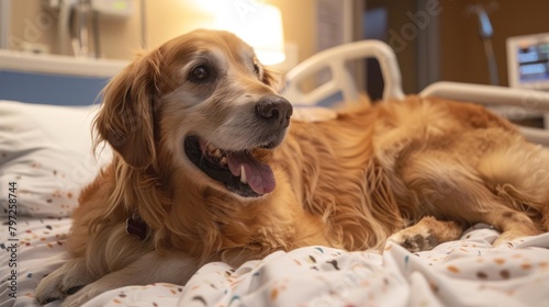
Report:
<svg viewBox="0 0 549 307"><path fill-rule="evenodd" d="M272 148L267 144L261 148ZM208 145L197 136L184 139L187 157L202 172L225 185L243 197L258 197L274 190L274 174L269 166L261 163L251 155L253 148L243 151L228 151Z"/></svg>

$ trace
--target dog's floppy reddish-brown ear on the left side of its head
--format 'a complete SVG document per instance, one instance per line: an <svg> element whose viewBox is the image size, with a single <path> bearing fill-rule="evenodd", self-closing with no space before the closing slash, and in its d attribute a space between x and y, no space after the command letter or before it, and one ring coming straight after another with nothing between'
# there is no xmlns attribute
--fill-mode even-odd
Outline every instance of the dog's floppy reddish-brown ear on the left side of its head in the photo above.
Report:
<svg viewBox="0 0 549 307"><path fill-rule="evenodd" d="M154 103L158 70L157 52L133 61L103 90L94 121L97 140L107 140L134 168L146 168L156 161Z"/></svg>

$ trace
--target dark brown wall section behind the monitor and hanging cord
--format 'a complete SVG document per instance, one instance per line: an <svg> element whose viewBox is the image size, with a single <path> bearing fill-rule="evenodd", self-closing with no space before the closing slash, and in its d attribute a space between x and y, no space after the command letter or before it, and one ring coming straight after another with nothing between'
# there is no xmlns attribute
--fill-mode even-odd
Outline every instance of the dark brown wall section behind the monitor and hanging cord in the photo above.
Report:
<svg viewBox="0 0 549 307"><path fill-rule="evenodd" d="M440 21L440 79L473 83L491 83L484 46L479 37L478 21L467 12L469 4L491 1L441 0ZM505 41L509 36L549 32L549 1L497 1L489 9L494 29L492 44L498 68L501 86L508 86Z"/></svg>

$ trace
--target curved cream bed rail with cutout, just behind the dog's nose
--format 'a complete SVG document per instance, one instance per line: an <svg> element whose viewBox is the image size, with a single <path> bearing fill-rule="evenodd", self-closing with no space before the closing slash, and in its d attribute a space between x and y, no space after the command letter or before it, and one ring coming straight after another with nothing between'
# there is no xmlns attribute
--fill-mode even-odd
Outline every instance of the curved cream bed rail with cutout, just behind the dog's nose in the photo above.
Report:
<svg viewBox="0 0 549 307"><path fill-rule="evenodd" d="M282 94L296 104L312 105L334 94L341 93L345 101L358 101L359 91L347 64L355 59L376 58L383 76L383 99L404 98L401 71L393 49L380 41L360 41L320 52L291 69ZM300 84L323 69L329 69L332 79L304 92Z"/></svg>

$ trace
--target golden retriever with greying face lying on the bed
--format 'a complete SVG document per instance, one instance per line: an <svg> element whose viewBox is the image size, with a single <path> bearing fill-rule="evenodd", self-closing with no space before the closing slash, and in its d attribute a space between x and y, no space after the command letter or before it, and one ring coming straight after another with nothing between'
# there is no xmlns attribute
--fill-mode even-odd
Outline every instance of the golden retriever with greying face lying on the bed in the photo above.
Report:
<svg viewBox="0 0 549 307"><path fill-rule="evenodd" d="M82 191L71 260L36 299L183 285L211 261L304 246L391 237L418 251L475 223L502 232L495 245L549 230L549 151L484 107L408 96L304 122L277 88L248 45L206 30L117 75L94 121L112 163Z"/></svg>

